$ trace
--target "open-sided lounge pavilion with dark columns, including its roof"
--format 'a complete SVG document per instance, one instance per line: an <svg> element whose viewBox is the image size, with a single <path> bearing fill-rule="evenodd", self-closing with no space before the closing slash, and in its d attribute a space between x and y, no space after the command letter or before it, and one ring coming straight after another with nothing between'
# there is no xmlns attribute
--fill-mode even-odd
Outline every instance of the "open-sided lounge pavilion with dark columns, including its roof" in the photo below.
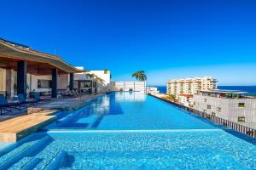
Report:
<svg viewBox="0 0 256 170"><path fill-rule="evenodd" d="M20 102L18 94L26 101L35 100L35 92L45 95L44 98L57 99L62 91L73 91L74 73L79 72L83 70L59 56L0 38L0 95L10 103Z"/></svg>

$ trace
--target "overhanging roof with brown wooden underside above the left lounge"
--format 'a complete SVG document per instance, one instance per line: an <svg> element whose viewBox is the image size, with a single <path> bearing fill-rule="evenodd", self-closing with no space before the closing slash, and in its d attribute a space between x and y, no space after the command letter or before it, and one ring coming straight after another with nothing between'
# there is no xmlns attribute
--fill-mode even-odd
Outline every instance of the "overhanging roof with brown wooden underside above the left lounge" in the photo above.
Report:
<svg viewBox="0 0 256 170"><path fill-rule="evenodd" d="M0 67L16 70L16 63L19 60L26 60L28 62L28 72L30 71L36 75L48 74L51 68L58 68L60 74L84 72L84 70L79 70L68 64L59 56L39 52L26 45L0 38Z"/></svg>

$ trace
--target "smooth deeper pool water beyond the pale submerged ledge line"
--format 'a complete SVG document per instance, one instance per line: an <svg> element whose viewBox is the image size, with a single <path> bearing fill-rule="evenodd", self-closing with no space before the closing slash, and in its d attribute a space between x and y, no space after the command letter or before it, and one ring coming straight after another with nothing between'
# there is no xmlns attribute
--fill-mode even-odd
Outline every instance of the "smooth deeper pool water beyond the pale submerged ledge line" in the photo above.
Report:
<svg viewBox="0 0 256 170"><path fill-rule="evenodd" d="M66 115L67 114L67 115ZM145 94L112 93L68 113L51 127L83 129L211 129L216 128L176 106Z"/></svg>

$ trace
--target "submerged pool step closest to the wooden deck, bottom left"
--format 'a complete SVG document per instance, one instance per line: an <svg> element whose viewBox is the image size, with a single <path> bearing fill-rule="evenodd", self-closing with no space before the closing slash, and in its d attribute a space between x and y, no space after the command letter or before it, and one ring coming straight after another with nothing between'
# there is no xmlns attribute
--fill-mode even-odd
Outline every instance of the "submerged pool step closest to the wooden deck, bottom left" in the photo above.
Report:
<svg viewBox="0 0 256 170"><path fill-rule="evenodd" d="M45 136L43 139L35 140L29 144L22 144L15 150L9 151L0 158L0 169L7 169L17 163L26 156L32 155L38 149L42 148L44 144L49 142L49 136ZM22 166L22 165L20 165Z"/></svg>

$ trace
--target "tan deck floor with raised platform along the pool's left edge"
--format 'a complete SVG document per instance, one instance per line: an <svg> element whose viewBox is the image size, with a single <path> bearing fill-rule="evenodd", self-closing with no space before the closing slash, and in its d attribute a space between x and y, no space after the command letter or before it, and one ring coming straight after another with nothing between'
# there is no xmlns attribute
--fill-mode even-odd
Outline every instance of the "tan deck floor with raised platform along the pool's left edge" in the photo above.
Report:
<svg viewBox="0 0 256 170"><path fill-rule="evenodd" d="M96 97L100 95L102 94L52 99L48 103L32 105L27 110L15 112L15 115L0 116L0 142L15 142L30 133L38 131L49 123L54 122L55 116L50 116L50 114L55 112L55 110L77 110L85 105L88 99L96 99Z"/></svg>

